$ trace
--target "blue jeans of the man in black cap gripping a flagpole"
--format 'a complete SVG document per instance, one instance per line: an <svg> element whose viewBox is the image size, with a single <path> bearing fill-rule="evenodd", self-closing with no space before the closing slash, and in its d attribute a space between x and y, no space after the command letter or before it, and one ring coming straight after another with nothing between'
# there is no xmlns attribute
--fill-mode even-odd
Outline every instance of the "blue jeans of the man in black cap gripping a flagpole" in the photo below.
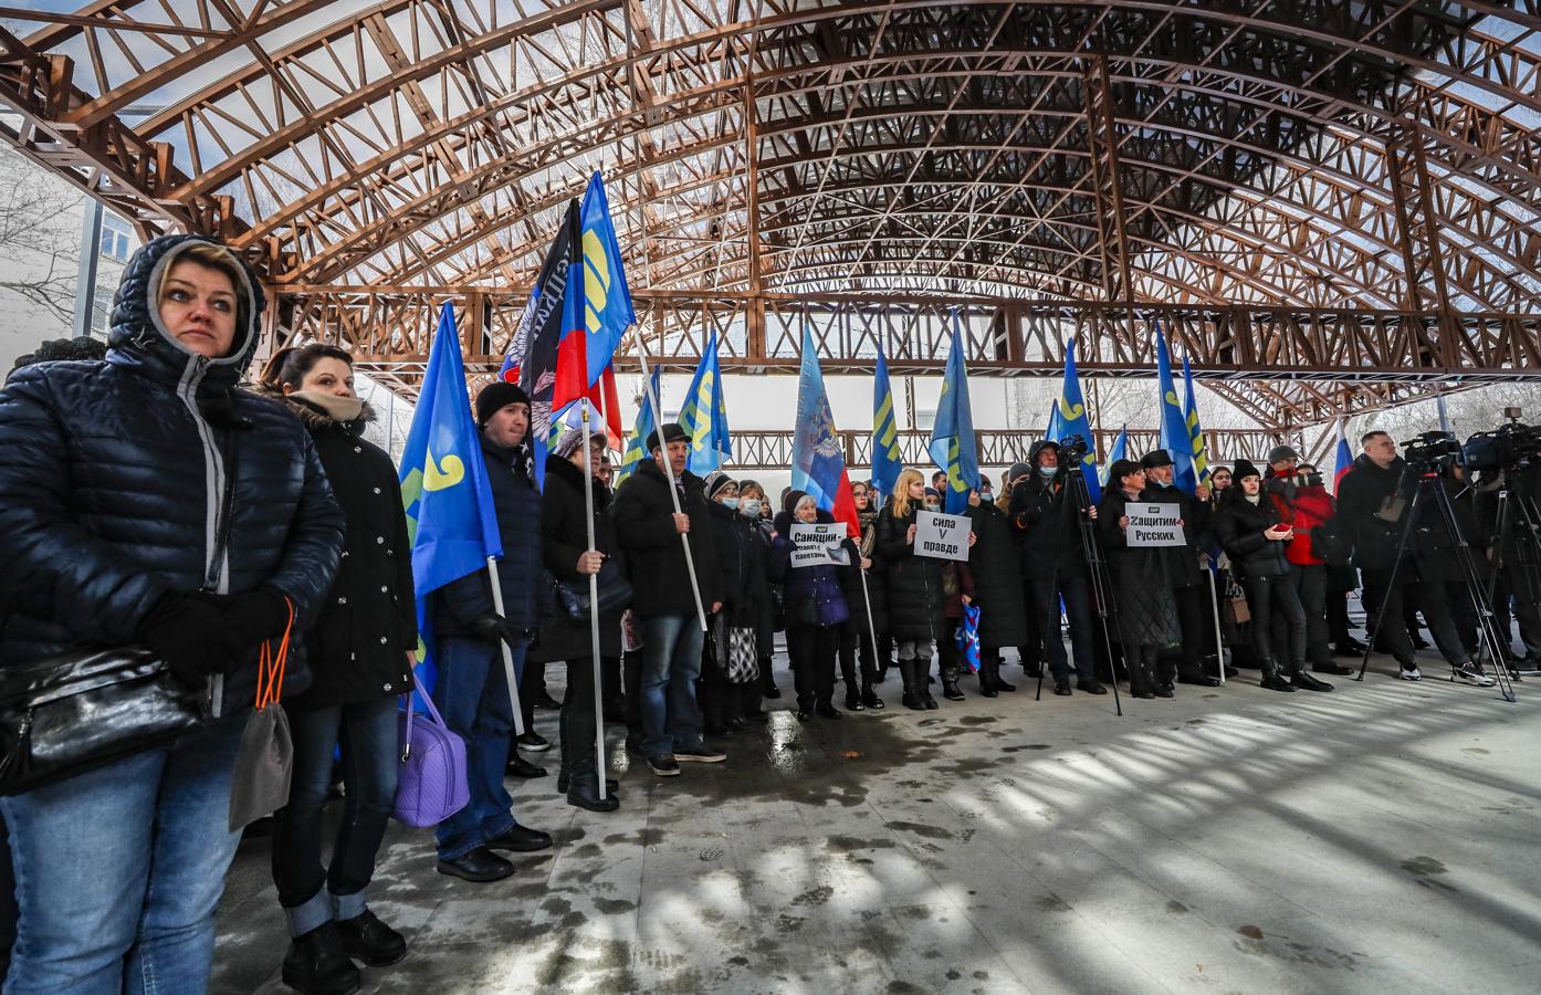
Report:
<svg viewBox="0 0 1541 995"><path fill-rule="evenodd" d="M643 624L643 753L658 756L701 745L701 676L706 633L695 615L649 615Z"/></svg>

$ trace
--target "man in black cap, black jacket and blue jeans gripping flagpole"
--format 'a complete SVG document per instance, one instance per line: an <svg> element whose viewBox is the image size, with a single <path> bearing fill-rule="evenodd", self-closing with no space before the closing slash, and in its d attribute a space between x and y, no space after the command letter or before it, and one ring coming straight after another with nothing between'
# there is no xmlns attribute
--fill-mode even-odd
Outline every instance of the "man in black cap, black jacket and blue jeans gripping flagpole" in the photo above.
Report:
<svg viewBox="0 0 1541 995"><path fill-rule="evenodd" d="M701 676L704 633L690 590L690 565L707 613L723 607L718 593L723 584L706 485L686 470L690 437L675 422L660 431L647 436L652 459L638 464L636 473L615 493L610 519L627 553L632 615L643 638L640 745L652 772L670 778L680 773L680 761L727 759L701 741L695 682ZM690 562L680 536L690 544Z"/></svg>

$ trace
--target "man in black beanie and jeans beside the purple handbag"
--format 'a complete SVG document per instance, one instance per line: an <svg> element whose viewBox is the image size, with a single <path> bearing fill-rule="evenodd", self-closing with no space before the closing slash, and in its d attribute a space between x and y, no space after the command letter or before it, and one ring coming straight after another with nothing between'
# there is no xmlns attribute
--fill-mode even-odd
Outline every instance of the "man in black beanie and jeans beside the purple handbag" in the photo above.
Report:
<svg viewBox="0 0 1541 995"><path fill-rule="evenodd" d="M488 384L476 396L475 428L476 448L467 445L459 459L433 453L441 464L430 476L442 482L444 476L462 473L465 464L485 467L502 562L501 568L461 576L436 591L439 675L433 699L444 722L465 741L470 786L470 804L439 824L439 873L482 883L513 873L513 864L495 850L544 850L552 838L515 821L513 799L504 787L505 766L525 776L544 773L512 753L518 705L509 682L512 670L518 687L525 652L541 624L541 494L529 447L529 394L515 384ZM424 487L433 484L425 481Z"/></svg>

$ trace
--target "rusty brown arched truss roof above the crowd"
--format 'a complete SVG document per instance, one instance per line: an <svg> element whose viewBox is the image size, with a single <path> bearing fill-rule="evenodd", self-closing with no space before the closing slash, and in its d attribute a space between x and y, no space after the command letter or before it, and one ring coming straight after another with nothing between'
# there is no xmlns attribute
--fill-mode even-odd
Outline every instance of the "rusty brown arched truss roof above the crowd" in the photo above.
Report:
<svg viewBox="0 0 1541 995"><path fill-rule="evenodd" d="M1160 319L1268 427L1541 367L1536 3L96 0L0 34L6 137L220 233L279 331L496 353L604 169L649 347L1133 371ZM438 290L436 290L438 288ZM646 293L644 293L646 291ZM803 310L798 311L797 307ZM382 317L394 314L396 317ZM787 317L792 316L792 317ZM878 316L878 317L874 317ZM1145 367L1148 370L1148 365ZM405 380L404 380L405 382Z"/></svg>

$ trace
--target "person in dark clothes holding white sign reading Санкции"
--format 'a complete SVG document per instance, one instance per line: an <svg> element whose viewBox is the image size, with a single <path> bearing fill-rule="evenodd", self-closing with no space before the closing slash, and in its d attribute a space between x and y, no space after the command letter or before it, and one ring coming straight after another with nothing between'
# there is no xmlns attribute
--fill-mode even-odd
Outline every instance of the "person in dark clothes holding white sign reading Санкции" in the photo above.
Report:
<svg viewBox="0 0 1541 995"><path fill-rule="evenodd" d="M815 715L838 719L843 715L834 705L835 650L840 627L851 618L840 573L855 567L834 565L824 534L798 528L798 524L834 524L835 519L818 508L812 494L794 494L792 507L775 518L770 579L781 584L786 601L786 652L797 687L797 721L806 722ZM872 565L860 559L849 539L837 547L848 564Z"/></svg>

